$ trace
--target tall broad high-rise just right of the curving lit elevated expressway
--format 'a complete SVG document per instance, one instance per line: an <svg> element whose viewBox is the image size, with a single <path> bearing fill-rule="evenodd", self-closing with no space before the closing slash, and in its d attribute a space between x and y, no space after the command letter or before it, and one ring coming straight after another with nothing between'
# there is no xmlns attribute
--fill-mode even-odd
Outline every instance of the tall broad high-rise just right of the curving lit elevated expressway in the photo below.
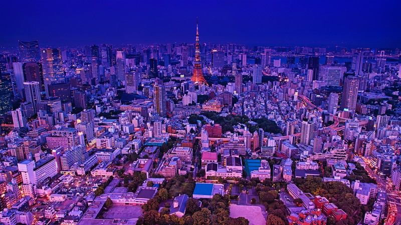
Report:
<svg viewBox="0 0 401 225"><path fill-rule="evenodd" d="M358 85L359 83L357 77L345 77L341 96L341 110L347 108L350 111L355 111L356 98L358 96Z"/></svg>

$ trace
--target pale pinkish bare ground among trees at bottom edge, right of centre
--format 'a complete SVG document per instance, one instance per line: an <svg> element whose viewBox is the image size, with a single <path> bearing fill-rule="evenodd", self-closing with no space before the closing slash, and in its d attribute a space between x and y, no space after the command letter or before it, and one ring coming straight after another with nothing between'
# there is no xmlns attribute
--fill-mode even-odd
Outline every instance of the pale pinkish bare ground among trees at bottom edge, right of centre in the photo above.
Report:
<svg viewBox="0 0 401 225"><path fill-rule="evenodd" d="M265 225L266 218L263 216L262 208L254 205L230 205L230 217L245 217L249 225Z"/></svg>

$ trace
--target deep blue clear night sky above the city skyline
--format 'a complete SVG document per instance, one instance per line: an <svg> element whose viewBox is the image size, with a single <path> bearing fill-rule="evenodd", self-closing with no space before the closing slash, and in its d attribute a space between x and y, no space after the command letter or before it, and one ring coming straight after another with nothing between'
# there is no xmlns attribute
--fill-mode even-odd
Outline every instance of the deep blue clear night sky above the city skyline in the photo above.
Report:
<svg viewBox="0 0 401 225"><path fill-rule="evenodd" d="M195 2L198 2L195 4ZM0 45L200 42L401 47L400 0L2 0Z"/></svg>

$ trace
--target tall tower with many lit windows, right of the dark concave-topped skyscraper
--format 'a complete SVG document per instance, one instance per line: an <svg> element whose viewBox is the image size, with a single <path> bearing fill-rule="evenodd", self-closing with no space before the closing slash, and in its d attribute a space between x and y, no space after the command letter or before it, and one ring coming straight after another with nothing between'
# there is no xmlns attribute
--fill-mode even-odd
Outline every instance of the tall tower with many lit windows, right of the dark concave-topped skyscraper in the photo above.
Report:
<svg viewBox="0 0 401 225"><path fill-rule="evenodd" d="M58 48L42 50L43 79L46 96L49 96L49 85L65 82L61 51Z"/></svg>

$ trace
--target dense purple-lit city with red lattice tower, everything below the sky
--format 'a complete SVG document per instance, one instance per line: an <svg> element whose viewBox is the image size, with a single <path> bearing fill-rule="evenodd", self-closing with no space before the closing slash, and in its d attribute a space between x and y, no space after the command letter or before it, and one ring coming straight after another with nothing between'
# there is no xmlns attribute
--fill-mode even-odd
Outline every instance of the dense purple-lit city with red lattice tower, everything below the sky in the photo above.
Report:
<svg viewBox="0 0 401 225"><path fill-rule="evenodd" d="M207 28L0 47L0 224L401 224L401 48Z"/></svg>

